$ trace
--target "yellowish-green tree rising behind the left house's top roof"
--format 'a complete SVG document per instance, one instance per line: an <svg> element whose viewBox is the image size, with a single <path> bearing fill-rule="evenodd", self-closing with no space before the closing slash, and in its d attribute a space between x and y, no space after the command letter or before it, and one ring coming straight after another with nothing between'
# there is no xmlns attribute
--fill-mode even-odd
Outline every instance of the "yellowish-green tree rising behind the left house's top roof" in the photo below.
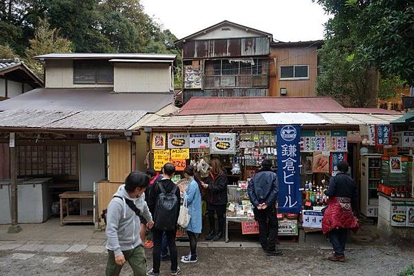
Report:
<svg viewBox="0 0 414 276"><path fill-rule="evenodd" d="M39 21L34 39L30 39L29 43L30 47L26 50L24 61L39 77L43 77L43 66L33 57L50 52L72 52L72 42L61 37L58 29L50 28L46 19Z"/></svg>

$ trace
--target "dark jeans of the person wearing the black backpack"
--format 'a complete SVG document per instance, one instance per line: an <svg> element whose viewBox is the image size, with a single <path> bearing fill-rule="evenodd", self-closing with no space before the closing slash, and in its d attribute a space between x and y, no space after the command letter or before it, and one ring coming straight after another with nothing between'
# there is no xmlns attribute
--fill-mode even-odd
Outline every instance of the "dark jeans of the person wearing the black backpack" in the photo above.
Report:
<svg viewBox="0 0 414 276"><path fill-rule="evenodd" d="M154 248L152 248L152 268L155 273L159 273L159 264L161 263L161 243L163 230L152 229L152 239ZM166 231L168 248L170 249L171 270L177 270L177 246L175 246L175 235L177 231Z"/></svg>

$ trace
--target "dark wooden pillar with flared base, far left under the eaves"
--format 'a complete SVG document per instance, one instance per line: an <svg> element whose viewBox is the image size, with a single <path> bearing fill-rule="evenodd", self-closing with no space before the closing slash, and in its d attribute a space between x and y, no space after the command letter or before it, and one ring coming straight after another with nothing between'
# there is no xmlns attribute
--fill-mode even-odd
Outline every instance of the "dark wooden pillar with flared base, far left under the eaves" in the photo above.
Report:
<svg viewBox="0 0 414 276"><path fill-rule="evenodd" d="M21 228L18 224L18 200L17 200L17 164L16 164L16 134L10 132L10 192L11 192L11 217L12 225L8 228L8 233L19 233Z"/></svg>

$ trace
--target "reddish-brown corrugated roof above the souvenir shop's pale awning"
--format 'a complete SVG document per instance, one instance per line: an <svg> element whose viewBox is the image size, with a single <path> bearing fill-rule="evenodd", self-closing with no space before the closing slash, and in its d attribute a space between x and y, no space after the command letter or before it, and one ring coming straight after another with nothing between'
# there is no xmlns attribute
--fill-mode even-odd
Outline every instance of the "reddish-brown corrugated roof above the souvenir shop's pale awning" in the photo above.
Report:
<svg viewBox="0 0 414 276"><path fill-rule="evenodd" d="M179 115L264 112L400 114L380 108L344 108L331 97L193 97Z"/></svg>

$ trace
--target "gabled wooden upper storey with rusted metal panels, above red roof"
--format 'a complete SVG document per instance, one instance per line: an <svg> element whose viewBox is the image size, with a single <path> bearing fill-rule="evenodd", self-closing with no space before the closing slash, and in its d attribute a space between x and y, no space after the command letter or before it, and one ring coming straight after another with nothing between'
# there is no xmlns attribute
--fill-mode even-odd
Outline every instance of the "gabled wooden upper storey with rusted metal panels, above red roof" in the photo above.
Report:
<svg viewBox="0 0 414 276"><path fill-rule="evenodd" d="M184 103L191 97L315 95L322 41L273 41L268 32L222 21L176 44Z"/></svg>

